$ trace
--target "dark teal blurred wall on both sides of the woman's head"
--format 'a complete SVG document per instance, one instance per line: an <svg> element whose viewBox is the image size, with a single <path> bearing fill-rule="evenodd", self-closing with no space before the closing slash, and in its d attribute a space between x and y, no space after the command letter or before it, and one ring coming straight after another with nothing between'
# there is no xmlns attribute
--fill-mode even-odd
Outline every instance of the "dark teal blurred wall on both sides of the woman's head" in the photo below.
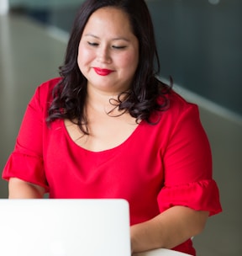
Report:
<svg viewBox="0 0 242 256"><path fill-rule="evenodd" d="M160 77L171 75L182 88L242 115L242 1L146 2L155 24ZM40 9L22 6L21 11L70 32L80 4Z"/></svg>

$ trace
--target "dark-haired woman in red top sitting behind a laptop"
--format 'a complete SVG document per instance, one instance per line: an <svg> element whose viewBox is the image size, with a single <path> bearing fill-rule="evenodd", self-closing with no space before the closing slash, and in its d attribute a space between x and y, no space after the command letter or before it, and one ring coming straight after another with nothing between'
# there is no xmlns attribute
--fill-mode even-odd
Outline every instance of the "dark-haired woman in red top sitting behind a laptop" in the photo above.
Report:
<svg viewBox="0 0 242 256"><path fill-rule="evenodd" d="M190 238L221 211L211 151L197 105L158 72L144 1L83 3L60 77L37 88L3 170L9 198L123 198L133 253L195 255Z"/></svg>

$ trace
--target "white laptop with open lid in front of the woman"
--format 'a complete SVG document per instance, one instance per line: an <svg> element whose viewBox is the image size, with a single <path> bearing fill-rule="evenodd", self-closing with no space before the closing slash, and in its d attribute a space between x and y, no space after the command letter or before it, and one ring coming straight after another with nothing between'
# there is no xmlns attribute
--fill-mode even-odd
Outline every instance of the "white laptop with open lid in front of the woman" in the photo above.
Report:
<svg viewBox="0 0 242 256"><path fill-rule="evenodd" d="M0 255L130 256L126 200L0 200Z"/></svg>

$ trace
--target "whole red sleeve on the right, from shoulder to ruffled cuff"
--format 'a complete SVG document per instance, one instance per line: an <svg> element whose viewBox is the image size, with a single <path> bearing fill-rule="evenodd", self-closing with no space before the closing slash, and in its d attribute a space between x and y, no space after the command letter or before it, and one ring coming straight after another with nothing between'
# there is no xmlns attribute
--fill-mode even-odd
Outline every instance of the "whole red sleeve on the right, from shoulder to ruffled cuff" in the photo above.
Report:
<svg viewBox="0 0 242 256"><path fill-rule="evenodd" d="M214 215L221 211L213 180L212 154L198 108L188 104L177 114L163 157L165 183L158 195L160 211L185 205Z"/></svg>

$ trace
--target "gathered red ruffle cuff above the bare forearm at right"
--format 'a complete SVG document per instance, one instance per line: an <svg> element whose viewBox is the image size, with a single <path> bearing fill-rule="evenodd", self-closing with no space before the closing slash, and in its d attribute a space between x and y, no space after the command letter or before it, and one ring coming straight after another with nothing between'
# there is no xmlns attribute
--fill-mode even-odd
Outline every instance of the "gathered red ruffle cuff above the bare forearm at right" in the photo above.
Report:
<svg viewBox="0 0 242 256"><path fill-rule="evenodd" d="M213 179L189 184L165 186L158 195L160 212L175 205L184 205L196 211L209 211L209 216L222 211L218 186Z"/></svg>

